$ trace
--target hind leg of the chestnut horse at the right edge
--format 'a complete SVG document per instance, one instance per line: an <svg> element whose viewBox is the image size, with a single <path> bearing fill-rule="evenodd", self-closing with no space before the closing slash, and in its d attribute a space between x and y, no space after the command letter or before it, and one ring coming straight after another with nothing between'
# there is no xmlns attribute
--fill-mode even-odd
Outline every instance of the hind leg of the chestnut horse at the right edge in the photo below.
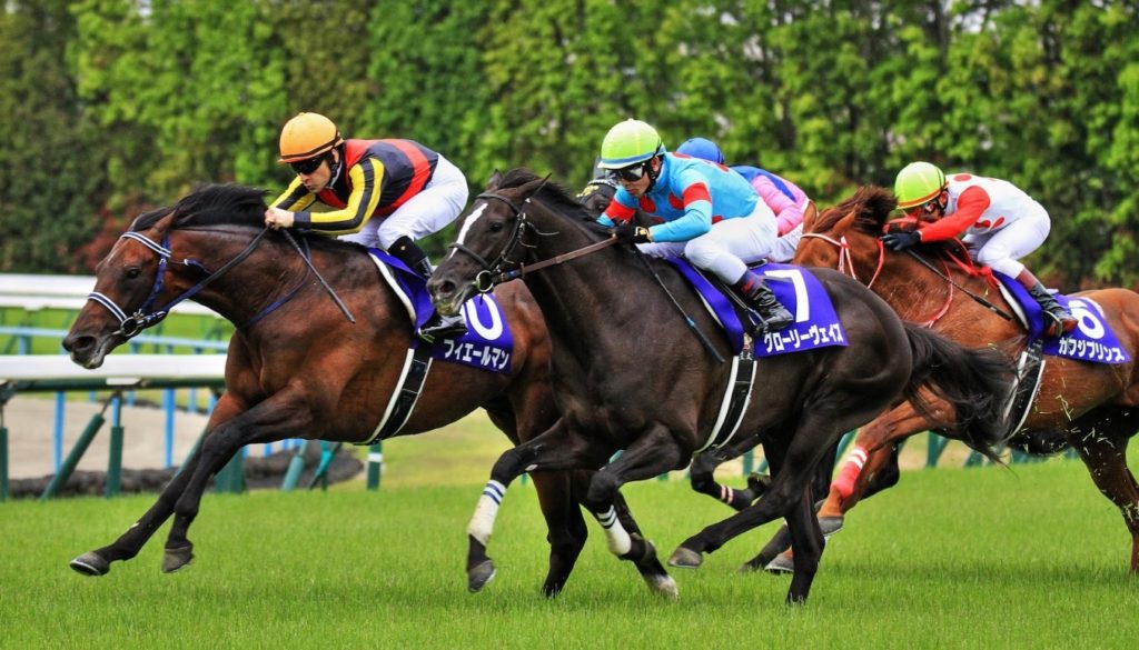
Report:
<svg viewBox="0 0 1139 650"><path fill-rule="evenodd" d="M1104 496L1123 515L1131 533L1131 573L1139 574L1139 484L1128 469L1128 439L1139 426L1139 409L1100 408L1073 422L1072 446Z"/></svg>

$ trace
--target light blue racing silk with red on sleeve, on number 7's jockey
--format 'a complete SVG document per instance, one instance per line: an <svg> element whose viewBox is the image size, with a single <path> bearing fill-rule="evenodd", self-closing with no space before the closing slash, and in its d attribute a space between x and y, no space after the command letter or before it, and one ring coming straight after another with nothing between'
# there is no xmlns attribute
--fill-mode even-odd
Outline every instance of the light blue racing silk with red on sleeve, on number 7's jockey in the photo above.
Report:
<svg viewBox="0 0 1139 650"><path fill-rule="evenodd" d="M663 223L649 228L653 241L688 241L724 219L748 216L760 200L747 180L723 165L665 154L653 189L640 199L623 187L598 222L612 227L640 208Z"/></svg>

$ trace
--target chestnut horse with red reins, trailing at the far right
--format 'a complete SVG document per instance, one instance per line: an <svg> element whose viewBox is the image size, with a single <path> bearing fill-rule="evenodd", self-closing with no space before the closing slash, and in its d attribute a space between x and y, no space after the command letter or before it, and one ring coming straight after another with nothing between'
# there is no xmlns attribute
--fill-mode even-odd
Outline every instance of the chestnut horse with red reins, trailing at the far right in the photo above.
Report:
<svg viewBox="0 0 1139 650"><path fill-rule="evenodd" d="M1000 293L981 277L953 264L942 265L941 248L923 248L921 254L948 273L958 286L954 288L910 255L883 248L878 237L894 206L890 191L860 189L804 224L795 263L839 269L868 283L903 319L927 323L962 345L1022 349L1026 343L1023 327L998 316L965 293L982 296L1009 312ZM1139 377L1134 362L1139 359L1139 294L1112 288L1076 295L1103 307L1132 361L1108 365L1049 356L1036 400L1018 437L1027 435L1036 443L1047 443L1062 436L1079 452L1096 487L1123 515L1131 534L1131 571L1139 573L1139 484L1126 464L1128 442L1139 430ZM903 404L862 427L852 454L866 454L866 464L853 482L861 458L847 464L850 469L831 485L820 516L842 517L863 495L866 482L888 461L896 442L939 425ZM1052 444L1040 451L1056 452L1063 446Z"/></svg>

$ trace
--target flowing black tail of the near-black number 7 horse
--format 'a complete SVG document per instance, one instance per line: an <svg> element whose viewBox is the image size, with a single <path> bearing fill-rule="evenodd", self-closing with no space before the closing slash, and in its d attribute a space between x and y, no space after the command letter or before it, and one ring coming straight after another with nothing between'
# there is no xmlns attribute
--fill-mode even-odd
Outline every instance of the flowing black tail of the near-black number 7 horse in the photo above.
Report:
<svg viewBox="0 0 1139 650"><path fill-rule="evenodd" d="M928 388L952 405L952 430L985 456L998 460L993 447L1005 443L1010 422L1003 413L1014 368L995 348L974 349L913 323L904 323L913 352L913 370L906 397L924 418L940 421L919 390Z"/></svg>

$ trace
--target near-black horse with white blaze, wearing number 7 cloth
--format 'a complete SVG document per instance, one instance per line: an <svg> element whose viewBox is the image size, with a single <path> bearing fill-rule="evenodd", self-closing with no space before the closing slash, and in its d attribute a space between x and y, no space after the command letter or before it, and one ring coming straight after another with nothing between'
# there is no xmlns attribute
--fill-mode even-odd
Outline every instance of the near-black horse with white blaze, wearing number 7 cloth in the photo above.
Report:
<svg viewBox="0 0 1139 650"><path fill-rule="evenodd" d="M472 590L494 575L486 554L494 518L511 480L528 471L598 470L585 503L609 550L634 562L655 558L652 544L613 517L616 489L682 469L718 418L729 365L718 363L687 329L645 258L630 246L609 244L608 231L564 190L515 170L492 179L476 198L452 252L428 282L436 307L453 313L476 290L521 275L552 340L552 382L563 417L495 462L468 527ZM587 247L592 253L579 256ZM542 262L552 264L535 271ZM712 318L679 273L659 261L649 264L697 327L713 335L719 354L730 357L726 337L714 336ZM756 504L689 538L670 560L695 567L700 553L785 517L797 551L789 602L806 598L822 551L808 484L842 433L933 386L972 413L962 435L992 453L990 445L1003 437L997 411L1009 371L999 353L966 351L904 326L884 301L841 273L811 273L829 294L849 345L757 361L756 398L739 435L762 436L772 483ZM658 576L655 587L675 594L667 575Z"/></svg>

